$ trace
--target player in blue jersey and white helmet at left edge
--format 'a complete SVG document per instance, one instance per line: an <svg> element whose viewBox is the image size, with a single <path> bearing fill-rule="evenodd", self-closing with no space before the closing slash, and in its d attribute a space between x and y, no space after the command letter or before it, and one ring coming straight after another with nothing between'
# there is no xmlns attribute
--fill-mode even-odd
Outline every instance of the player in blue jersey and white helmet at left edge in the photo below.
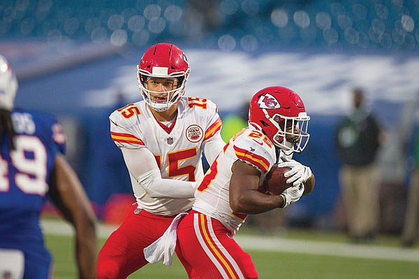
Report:
<svg viewBox="0 0 419 279"><path fill-rule="evenodd" d="M47 196L75 228L79 278L94 278L96 218L64 156L61 125L52 116L13 109L16 91L15 75L0 56L0 278L52 278L39 225Z"/></svg>

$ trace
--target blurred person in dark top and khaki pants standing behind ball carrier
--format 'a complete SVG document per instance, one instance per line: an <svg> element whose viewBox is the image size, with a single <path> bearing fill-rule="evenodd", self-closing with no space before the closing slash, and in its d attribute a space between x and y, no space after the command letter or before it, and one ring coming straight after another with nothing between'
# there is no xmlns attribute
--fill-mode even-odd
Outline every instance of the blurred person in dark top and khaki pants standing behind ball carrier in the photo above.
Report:
<svg viewBox="0 0 419 279"><path fill-rule="evenodd" d="M378 230L380 179L376 155L382 132L376 116L365 107L363 89L353 89L352 98L353 109L340 119L335 144L348 234L358 242L374 239Z"/></svg>

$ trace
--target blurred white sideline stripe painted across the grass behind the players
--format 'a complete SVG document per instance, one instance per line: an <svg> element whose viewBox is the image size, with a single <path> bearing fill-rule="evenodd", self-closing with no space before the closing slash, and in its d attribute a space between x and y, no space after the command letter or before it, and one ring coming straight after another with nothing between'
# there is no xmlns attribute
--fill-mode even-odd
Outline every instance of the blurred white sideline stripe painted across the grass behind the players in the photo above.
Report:
<svg viewBox="0 0 419 279"><path fill-rule="evenodd" d="M73 235L73 227L57 220L41 220L46 234ZM108 238L117 226L98 225L98 237ZM311 255L331 255L340 257L360 257L368 259L390 259L419 262L419 250L415 248L383 247L364 244L337 243L325 241L303 241L282 239L274 236L240 236L234 239L244 249L296 252Z"/></svg>

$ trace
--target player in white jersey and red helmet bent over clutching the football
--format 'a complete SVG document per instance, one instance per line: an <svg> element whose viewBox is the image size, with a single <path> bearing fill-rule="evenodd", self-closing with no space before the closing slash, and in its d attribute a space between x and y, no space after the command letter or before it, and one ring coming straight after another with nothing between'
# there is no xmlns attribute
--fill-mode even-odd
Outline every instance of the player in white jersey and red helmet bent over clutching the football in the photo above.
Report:
<svg viewBox="0 0 419 279"><path fill-rule="evenodd" d="M307 145L309 116L301 98L280 86L251 99L249 127L237 133L212 163L198 186L193 208L177 227L177 256L189 278L258 278L247 252L233 235L248 214L297 202L314 187L311 169L292 160ZM291 188L281 195L258 191L272 165L286 172Z"/></svg>

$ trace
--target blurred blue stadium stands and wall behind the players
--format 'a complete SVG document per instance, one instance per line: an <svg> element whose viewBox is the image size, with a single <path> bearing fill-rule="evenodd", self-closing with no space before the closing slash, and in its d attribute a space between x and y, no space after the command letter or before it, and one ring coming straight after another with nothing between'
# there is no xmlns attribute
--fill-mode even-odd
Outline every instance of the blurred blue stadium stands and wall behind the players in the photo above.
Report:
<svg viewBox="0 0 419 279"><path fill-rule="evenodd" d="M20 80L17 106L64 124L68 158L108 223L133 202L108 115L140 99L135 65L150 45L184 50L186 95L210 98L223 119L265 86L300 93L311 140L296 157L312 167L316 190L286 211L286 225L344 229L333 129L362 86L388 133L381 231L398 233L418 119L418 24L418 0L3 0L0 53Z"/></svg>

